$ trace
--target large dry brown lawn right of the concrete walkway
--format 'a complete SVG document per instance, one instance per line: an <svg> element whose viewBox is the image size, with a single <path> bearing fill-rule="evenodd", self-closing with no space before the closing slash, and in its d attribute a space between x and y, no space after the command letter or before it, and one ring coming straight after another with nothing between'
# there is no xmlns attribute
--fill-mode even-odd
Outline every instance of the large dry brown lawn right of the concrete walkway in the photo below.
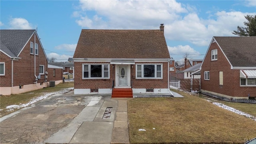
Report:
<svg viewBox="0 0 256 144"><path fill-rule="evenodd" d="M128 100L130 142L244 143L254 138L256 121L195 96ZM146 132L138 131L145 129ZM153 130L156 128L156 130Z"/></svg>

